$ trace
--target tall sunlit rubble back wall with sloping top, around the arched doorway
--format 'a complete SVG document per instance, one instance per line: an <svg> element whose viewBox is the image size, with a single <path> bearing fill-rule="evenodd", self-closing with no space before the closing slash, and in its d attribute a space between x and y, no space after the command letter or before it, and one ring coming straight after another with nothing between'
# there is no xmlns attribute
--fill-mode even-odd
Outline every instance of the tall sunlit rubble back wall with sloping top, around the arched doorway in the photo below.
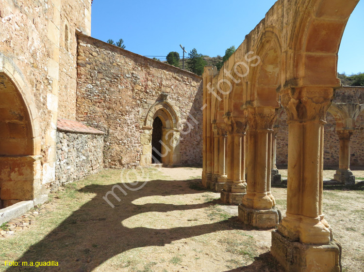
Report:
<svg viewBox="0 0 364 272"><path fill-rule="evenodd" d="M202 164L201 77L84 35L78 54L77 120L106 133L105 166L139 165L142 127L161 92L182 128L194 125L180 143L182 165Z"/></svg>

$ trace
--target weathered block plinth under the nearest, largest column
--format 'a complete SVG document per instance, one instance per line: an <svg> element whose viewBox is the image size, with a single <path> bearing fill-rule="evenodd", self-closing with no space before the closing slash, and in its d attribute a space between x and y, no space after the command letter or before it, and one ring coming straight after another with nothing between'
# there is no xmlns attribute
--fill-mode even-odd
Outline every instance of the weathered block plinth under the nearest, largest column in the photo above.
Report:
<svg viewBox="0 0 364 272"><path fill-rule="evenodd" d="M286 272L341 272L341 245L291 242L280 232L272 232L270 253Z"/></svg>

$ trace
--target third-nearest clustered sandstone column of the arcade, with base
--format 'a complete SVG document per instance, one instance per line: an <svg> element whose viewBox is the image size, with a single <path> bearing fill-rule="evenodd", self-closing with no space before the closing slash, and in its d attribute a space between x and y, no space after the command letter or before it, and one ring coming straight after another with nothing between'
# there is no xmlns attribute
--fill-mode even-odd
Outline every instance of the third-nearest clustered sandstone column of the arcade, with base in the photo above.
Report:
<svg viewBox="0 0 364 272"><path fill-rule="evenodd" d="M247 185L245 178L242 178L242 169L245 168L242 166L245 162L242 151L245 151L243 142L245 143L246 122L244 118L232 118L228 114L225 118L228 127L228 179L221 192L221 200L224 203L241 204Z"/></svg>

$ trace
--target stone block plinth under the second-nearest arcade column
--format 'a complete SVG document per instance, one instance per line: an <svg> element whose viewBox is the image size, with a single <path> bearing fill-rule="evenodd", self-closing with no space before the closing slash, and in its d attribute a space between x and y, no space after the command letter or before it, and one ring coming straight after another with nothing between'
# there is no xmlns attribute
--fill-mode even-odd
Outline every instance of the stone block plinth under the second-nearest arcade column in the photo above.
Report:
<svg viewBox="0 0 364 272"><path fill-rule="evenodd" d="M245 225L268 229L276 227L281 219L281 211L277 208L270 210L255 210L239 205L238 218Z"/></svg>

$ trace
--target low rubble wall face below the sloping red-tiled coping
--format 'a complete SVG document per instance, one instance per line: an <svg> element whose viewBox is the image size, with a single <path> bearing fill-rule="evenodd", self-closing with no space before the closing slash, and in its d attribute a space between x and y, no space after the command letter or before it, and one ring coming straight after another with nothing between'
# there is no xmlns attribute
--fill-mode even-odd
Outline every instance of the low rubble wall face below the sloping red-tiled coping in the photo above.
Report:
<svg viewBox="0 0 364 272"><path fill-rule="evenodd" d="M103 169L104 136L57 131L54 184L79 181Z"/></svg>

